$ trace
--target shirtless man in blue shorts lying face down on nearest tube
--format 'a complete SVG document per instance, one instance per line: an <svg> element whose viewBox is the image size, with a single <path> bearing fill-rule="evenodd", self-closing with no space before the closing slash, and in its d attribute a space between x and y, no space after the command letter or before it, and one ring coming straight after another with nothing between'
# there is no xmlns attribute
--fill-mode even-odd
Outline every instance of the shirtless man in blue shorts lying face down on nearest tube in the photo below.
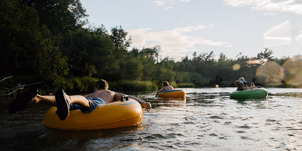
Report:
<svg viewBox="0 0 302 151"><path fill-rule="evenodd" d="M38 95L37 88L31 88L24 92L21 96L14 99L8 107L10 114L17 114L28 105L43 103L57 107L57 114L60 120L65 120L69 116L69 111L74 109L80 109L83 113L89 113L95 110L99 105L108 104L121 99L125 94L116 93L108 90L108 83L105 80L98 80L94 84L94 92L88 95L66 95L66 93L59 89L55 96L41 96ZM138 98L128 95L128 98L132 98L138 101L147 112L151 111L151 104L144 102Z"/></svg>

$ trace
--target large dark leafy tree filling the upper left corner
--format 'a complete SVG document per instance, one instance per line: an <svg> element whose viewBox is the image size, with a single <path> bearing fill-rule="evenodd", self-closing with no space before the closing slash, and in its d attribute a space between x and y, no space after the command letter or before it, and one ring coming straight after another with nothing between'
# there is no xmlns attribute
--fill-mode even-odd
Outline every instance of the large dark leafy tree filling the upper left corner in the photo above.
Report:
<svg viewBox="0 0 302 151"><path fill-rule="evenodd" d="M51 71L65 75L66 68L63 69L61 65L66 63L66 59L63 59L49 39L44 38L50 33L46 27L39 27L36 10L20 5L18 1L2 0L0 5L2 73L44 75ZM53 62L58 58L62 58L62 61Z"/></svg>

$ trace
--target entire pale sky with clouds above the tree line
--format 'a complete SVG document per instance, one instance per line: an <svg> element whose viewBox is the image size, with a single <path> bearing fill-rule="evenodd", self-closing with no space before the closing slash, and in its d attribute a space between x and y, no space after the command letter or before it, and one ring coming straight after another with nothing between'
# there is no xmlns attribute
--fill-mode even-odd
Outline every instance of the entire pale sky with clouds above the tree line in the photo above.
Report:
<svg viewBox="0 0 302 151"><path fill-rule="evenodd" d="M302 0L81 0L95 26L121 26L129 47L161 46L176 61L214 51L235 59L302 54Z"/></svg>

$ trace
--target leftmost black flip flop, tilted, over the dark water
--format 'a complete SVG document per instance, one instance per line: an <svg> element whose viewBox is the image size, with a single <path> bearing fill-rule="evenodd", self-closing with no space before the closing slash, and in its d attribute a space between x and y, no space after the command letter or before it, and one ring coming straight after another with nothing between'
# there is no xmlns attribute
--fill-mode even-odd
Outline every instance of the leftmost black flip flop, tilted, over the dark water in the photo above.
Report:
<svg viewBox="0 0 302 151"><path fill-rule="evenodd" d="M18 111L27 108L27 102L34 98L38 94L37 88L31 88L24 92L22 95L18 96L11 102L8 106L8 113L10 114L17 114Z"/></svg>

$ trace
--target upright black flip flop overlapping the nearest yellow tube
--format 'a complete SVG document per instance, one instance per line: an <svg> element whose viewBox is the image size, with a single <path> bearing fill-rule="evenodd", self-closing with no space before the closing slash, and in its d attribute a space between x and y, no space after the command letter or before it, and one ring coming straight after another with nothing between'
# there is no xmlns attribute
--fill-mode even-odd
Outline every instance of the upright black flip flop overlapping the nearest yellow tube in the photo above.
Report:
<svg viewBox="0 0 302 151"><path fill-rule="evenodd" d="M64 90L59 89L56 94L56 107L57 107L57 114L60 120L65 120L69 114L69 102L66 99L66 94Z"/></svg>

